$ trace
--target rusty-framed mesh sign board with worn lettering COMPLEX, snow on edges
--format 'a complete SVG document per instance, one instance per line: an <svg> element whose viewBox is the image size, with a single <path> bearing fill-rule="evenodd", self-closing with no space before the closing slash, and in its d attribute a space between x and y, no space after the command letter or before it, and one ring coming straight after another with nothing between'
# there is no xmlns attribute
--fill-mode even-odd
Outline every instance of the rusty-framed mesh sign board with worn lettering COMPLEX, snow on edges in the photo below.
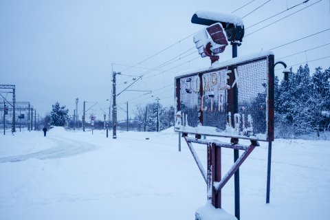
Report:
<svg viewBox="0 0 330 220"><path fill-rule="evenodd" d="M232 58L175 78L175 131L274 140L274 55Z"/></svg>

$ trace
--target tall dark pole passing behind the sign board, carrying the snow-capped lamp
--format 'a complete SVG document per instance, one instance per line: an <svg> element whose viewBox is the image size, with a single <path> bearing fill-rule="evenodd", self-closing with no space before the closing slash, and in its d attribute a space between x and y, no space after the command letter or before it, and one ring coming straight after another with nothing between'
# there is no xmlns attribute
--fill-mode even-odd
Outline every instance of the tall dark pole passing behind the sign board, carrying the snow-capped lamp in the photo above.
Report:
<svg viewBox="0 0 330 220"><path fill-rule="evenodd" d="M237 47L239 42L232 42L232 58L237 57ZM234 76L234 74L232 74ZM237 85L234 86L234 113L238 113ZM233 115L234 115L233 113ZM234 162L239 159L239 150L234 149ZM240 198L239 198L239 168L234 174L234 197L235 197L235 217L240 219Z"/></svg>

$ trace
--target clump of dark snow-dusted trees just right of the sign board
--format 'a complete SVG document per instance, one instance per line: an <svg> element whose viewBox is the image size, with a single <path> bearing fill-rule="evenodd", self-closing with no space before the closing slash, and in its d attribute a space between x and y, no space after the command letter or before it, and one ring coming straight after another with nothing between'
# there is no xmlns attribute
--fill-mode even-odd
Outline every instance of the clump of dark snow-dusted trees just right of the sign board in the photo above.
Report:
<svg viewBox="0 0 330 220"><path fill-rule="evenodd" d="M305 65L291 72L289 81L275 85L276 129L282 129L283 134L291 128L295 134L316 132L319 136L330 123L320 115L330 109L329 83L330 69L322 71L319 67L310 76Z"/></svg>

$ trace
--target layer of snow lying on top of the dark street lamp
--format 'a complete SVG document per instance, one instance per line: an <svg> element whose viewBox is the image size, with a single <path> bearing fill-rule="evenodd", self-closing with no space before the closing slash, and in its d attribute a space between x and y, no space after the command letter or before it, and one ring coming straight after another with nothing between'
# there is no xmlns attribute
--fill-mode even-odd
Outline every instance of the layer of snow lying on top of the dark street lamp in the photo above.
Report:
<svg viewBox="0 0 330 220"><path fill-rule="evenodd" d="M210 12L210 11L197 11L195 12L197 17L200 19L208 19L213 21L221 21L225 23L232 23L237 26L243 26L243 20L240 17L232 14L225 14L221 12Z"/></svg>

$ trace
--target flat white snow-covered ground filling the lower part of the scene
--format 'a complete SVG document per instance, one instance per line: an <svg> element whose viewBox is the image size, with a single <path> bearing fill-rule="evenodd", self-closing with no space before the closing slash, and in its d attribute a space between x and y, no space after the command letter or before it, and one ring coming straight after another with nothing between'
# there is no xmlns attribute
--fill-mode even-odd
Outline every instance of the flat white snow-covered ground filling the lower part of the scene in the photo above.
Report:
<svg viewBox="0 0 330 220"><path fill-rule="evenodd" d="M149 137L149 140L146 140ZM228 142L228 138L220 139ZM244 144L245 142L242 142ZM195 150L206 167L206 146ZM222 151L223 175L233 162ZM330 142L276 140L270 204L267 143L240 168L241 219L329 219ZM234 184L222 191L234 214ZM0 219L195 219L206 184L173 129L160 133L64 131L0 136Z"/></svg>

